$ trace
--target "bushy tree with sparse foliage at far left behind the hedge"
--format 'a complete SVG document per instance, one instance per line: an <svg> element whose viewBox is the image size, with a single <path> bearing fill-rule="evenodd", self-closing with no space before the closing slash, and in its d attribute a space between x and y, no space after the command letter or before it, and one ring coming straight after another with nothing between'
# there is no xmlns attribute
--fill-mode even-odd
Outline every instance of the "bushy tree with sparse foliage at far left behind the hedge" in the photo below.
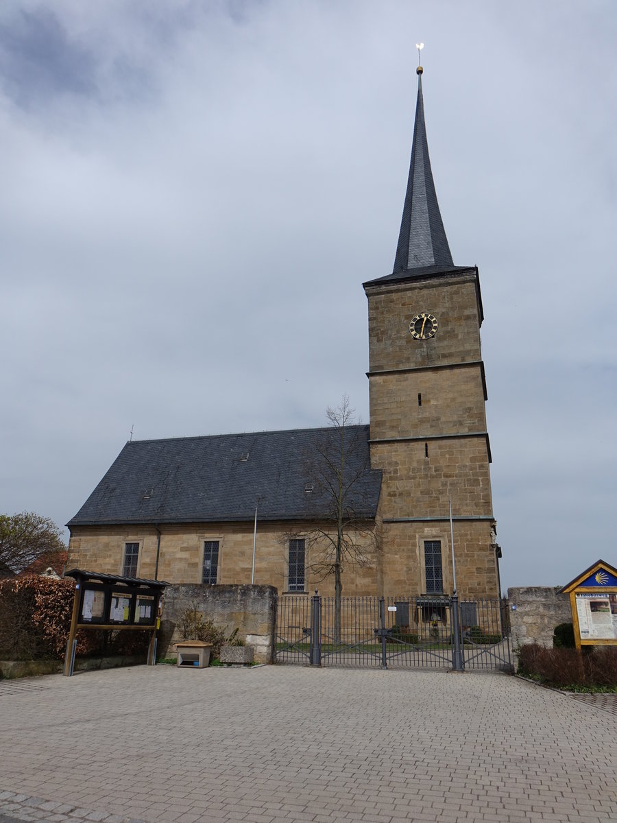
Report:
<svg viewBox="0 0 617 823"><path fill-rule="evenodd" d="M0 514L0 574L16 574L41 555L66 547L50 518L35 512Z"/></svg>

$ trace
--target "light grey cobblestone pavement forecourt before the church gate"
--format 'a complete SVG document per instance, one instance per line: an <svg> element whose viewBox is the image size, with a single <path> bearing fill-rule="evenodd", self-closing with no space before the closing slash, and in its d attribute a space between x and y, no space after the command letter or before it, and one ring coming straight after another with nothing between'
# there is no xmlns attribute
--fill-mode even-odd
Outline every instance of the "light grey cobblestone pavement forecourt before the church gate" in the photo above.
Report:
<svg viewBox="0 0 617 823"><path fill-rule="evenodd" d="M617 716L502 674L0 681L0 821L617 820Z"/></svg>

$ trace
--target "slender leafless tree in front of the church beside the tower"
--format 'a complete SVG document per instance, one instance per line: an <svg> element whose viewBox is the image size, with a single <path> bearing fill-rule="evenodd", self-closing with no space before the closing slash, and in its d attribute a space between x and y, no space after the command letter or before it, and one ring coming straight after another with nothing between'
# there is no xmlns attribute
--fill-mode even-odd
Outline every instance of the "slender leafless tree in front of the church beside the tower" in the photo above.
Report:
<svg viewBox="0 0 617 823"><path fill-rule="evenodd" d="M347 566L368 565L378 551L374 521L374 487L367 487L370 471L366 429L355 425L355 411L343 395L341 404L328 408L330 427L316 435L305 455L306 477L313 486L308 498L310 520L303 532L308 569L318 580L334 578L334 642L341 642L342 575ZM373 496L373 500L371 497Z"/></svg>

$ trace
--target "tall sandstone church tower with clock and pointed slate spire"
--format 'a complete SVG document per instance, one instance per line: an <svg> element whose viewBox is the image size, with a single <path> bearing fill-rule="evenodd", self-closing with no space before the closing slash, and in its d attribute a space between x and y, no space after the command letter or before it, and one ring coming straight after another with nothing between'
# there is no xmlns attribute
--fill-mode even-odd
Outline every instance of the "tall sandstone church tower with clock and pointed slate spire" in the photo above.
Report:
<svg viewBox="0 0 617 823"><path fill-rule="evenodd" d="M455 266L424 128L422 67L392 274L369 302L371 465L383 472L385 595L499 596L478 269Z"/></svg>

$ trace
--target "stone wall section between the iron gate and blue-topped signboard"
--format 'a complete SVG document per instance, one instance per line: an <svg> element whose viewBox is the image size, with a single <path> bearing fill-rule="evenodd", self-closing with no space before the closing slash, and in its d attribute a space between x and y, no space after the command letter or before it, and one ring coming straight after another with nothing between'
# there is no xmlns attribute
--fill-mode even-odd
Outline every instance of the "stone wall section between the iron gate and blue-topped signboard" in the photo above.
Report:
<svg viewBox="0 0 617 823"><path fill-rule="evenodd" d="M554 627L572 622L569 595L550 586L508 588L508 608L514 649L526 643L552 648Z"/></svg>

